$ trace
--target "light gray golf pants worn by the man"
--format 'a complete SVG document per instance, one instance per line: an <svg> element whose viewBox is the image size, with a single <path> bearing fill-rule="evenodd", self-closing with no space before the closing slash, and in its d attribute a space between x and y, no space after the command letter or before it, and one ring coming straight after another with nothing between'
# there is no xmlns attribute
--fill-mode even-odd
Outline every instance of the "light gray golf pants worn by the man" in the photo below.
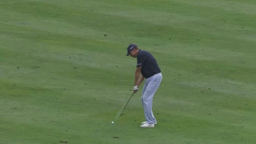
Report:
<svg viewBox="0 0 256 144"><path fill-rule="evenodd" d="M141 101L144 108L144 115L146 119L146 123L154 124L156 119L153 115L152 111L152 104L153 104L153 97L158 89L161 81L162 81L162 74L158 73L146 79L143 90Z"/></svg>

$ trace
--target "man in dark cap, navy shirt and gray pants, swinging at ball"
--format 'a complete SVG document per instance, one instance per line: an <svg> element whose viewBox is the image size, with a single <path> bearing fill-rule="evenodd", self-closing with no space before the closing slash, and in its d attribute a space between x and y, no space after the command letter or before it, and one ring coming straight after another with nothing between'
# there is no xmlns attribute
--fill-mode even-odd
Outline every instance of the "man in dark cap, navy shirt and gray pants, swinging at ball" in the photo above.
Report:
<svg viewBox="0 0 256 144"><path fill-rule="evenodd" d="M133 87L134 93L137 92L139 85L143 82L144 78L146 78L141 96L146 121L142 122L140 127L155 127L156 119L153 115L152 104L154 94L162 81L161 70L153 55L147 51L139 49L136 44L130 44L127 47L126 56L128 55L137 58L137 68L135 70Z"/></svg>

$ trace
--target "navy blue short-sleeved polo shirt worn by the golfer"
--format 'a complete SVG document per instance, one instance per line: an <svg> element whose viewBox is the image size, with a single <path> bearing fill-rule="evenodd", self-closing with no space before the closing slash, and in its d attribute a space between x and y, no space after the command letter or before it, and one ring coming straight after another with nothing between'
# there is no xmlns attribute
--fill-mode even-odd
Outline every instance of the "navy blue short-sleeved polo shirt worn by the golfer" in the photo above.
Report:
<svg viewBox="0 0 256 144"><path fill-rule="evenodd" d="M147 79L154 74L161 73L153 55L145 50L139 49L137 55L137 67L141 66L141 74Z"/></svg>

